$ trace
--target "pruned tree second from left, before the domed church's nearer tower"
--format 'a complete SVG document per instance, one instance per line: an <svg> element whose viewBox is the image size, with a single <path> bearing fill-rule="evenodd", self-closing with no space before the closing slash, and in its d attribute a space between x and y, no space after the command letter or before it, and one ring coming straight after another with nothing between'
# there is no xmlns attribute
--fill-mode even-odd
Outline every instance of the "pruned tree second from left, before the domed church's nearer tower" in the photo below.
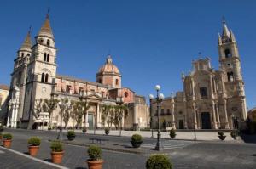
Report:
<svg viewBox="0 0 256 169"><path fill-rule="evenodd" d="M44 110L49 113L49 128L51 128L52 113L57 109L58 99L44 99Z"/></svg>

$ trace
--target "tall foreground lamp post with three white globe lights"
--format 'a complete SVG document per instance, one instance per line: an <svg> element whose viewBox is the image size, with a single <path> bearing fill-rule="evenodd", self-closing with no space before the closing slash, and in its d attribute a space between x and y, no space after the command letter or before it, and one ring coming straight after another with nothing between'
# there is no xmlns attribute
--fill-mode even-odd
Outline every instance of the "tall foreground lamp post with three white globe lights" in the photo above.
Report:
<svg viewBox="0 0 256 169"><path fill-rule="evenodd" d="M163 150L163 146L161 144L161 131L160 131L160 103L163 101L163 99L165 98L163 93L159 93L160 91L160 85L156 85L155 86L155 90L156 90L156 107L157 107L157 120L158 120L158 130L157 130L157 142L155 145L155 150L161 151ZM153 94L149 94L149 99L153 100L154 99L154 95Z"/></svg>

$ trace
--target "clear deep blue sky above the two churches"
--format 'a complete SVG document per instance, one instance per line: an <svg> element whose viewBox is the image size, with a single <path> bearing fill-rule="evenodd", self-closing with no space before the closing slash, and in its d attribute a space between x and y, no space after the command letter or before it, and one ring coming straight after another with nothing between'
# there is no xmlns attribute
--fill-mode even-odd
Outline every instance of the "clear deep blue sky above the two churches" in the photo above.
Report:
<svg viewBox="0 0 256 169"><path fill-rule="evenodd" d="M256 106L256 1L12 1L0 3L0 83L9 84L16 51L32 25L35 37L50 7L58 74L95 81L107 55L123 86L148 97L182 90L181 72L198 53L218 69L217 35L224 15L236 35L247 105Z"/></svg>

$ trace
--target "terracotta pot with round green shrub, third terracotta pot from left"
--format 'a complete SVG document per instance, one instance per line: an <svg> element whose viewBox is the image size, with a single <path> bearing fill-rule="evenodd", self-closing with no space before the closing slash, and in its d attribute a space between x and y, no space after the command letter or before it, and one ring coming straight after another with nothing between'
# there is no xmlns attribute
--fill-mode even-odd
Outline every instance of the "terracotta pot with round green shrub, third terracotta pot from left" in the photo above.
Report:
<svg viewBox="0 0 256 169"><path fill-rule="evenodd" d="M64 154L63 146L61 141L55 140L50 144L51 149L51 160L53 163L60 164L62 161L62 156Z"/></svg>

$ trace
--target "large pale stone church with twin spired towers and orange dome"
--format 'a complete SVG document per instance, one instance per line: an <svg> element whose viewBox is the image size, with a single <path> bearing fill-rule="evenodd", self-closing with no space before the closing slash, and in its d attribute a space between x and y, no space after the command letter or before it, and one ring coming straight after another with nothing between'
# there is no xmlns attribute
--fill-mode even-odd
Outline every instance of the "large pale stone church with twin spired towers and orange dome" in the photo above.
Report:
<svg viewBox="0 0 256 169"><path fill-rule="evenodd" d="M86 100L90 110L86 115L87 127L102 127L102 104L119 104L120 100L129 108L129 115L122 121L122 127L148 127L148 104L144 97L128 87L122 87L122 76L113 59L108 56L106 63L96 73L96 82L84 81L70 76L56 74L55 38L49 23L49 14L44 21L35 43L29 31L25 42L17 52L11 74L8 127L45 128L49 122L48 112L34 115L33 109L39 99ZM61 123L60 107L53 112L53 126ZM68 127L76 125L74 118Z"/></svg>

